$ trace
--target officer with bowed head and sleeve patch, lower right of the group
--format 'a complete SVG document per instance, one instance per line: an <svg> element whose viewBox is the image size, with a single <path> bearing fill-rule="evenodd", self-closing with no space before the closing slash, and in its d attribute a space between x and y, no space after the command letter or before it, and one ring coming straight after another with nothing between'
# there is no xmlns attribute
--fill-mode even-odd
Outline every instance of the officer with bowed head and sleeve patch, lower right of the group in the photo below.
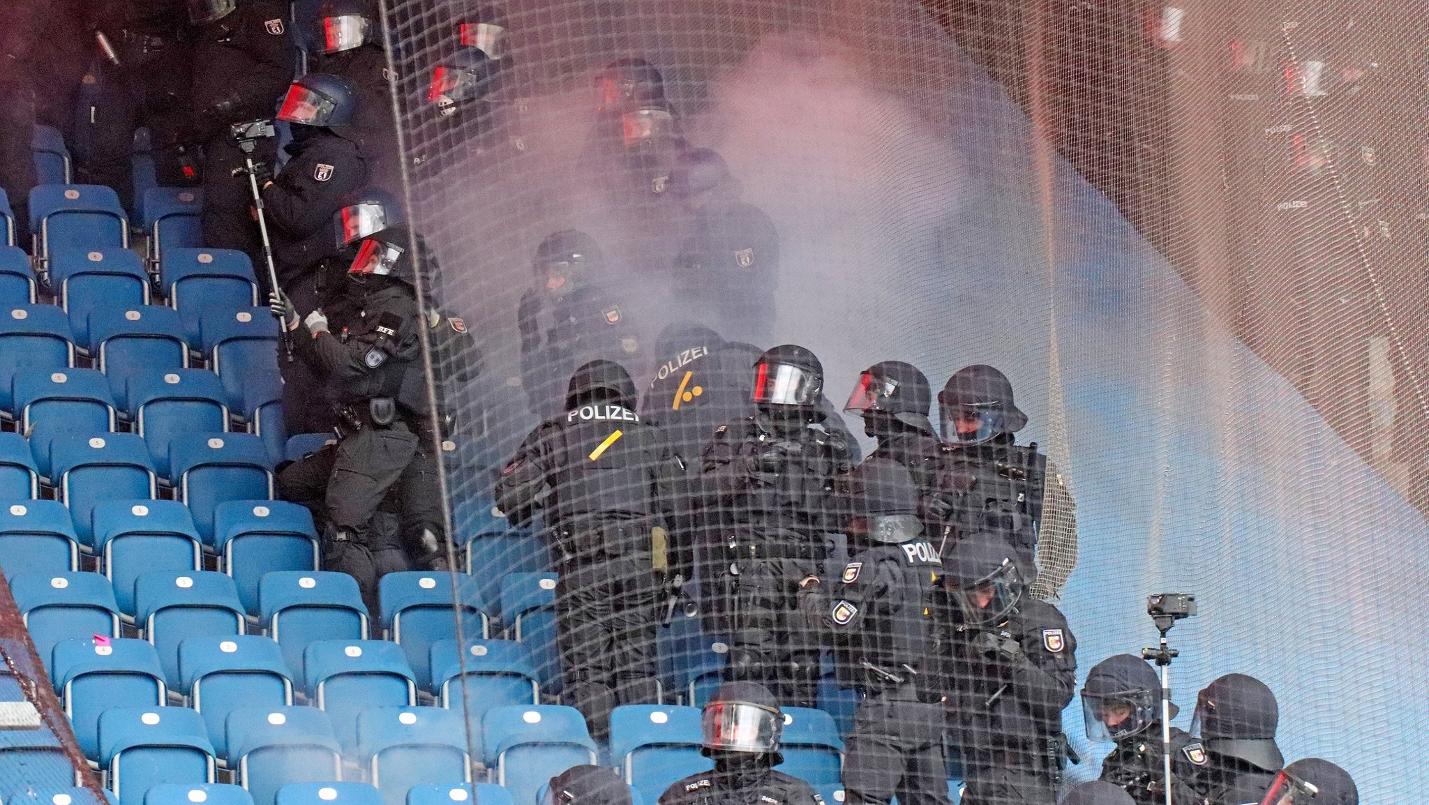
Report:
<svg viewBox="0 0 1429 805"><path fill-rule="evenodd" d="M1027 596L1017 562L996 533L965 536L943 555L943 685L967 805L1050 805L1066 759L1076 639L1057 608Z"/></svg>

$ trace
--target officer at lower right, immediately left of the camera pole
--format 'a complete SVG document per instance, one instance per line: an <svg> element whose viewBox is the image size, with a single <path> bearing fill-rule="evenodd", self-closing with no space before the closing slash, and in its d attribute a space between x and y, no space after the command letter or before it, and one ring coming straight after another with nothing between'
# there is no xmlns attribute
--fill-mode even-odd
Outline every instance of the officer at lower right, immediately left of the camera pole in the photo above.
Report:
<svg viewBox="0 0 1429 805"><path fill-rule="evenodd" d="M1176 716L1172 705L1172 718ZM1086 736L1093 744L1115 742L1102 761L1102 779L1126 789L1137 805L1166 801L1162 754L1160 679L1145 659L1119 653L1092 666L1082 688ZM1186 746L1195 738L1170 728L1172 799L1189 802L1189 781L1196 772Z"/></svg>

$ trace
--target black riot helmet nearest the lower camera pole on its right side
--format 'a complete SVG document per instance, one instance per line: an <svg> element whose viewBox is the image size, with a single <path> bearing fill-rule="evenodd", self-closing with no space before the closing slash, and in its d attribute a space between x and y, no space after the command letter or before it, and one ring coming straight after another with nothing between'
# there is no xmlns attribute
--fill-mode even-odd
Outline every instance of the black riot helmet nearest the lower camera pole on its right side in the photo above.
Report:
<svg viewBox="0 0 1429 805"><path fill-rule="evenodd" d="M1196 696L1190 731L1200 736L1208 752L1275 771L1285 762L1275 745L1279 721L1280 706L1265 682L1228 673Z"/></svg>

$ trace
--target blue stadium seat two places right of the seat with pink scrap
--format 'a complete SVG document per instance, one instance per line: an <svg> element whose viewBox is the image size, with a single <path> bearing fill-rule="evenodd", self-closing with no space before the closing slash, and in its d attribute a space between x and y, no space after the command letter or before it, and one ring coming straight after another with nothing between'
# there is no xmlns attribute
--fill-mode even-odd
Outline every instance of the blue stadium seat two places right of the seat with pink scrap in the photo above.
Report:
<svg viewBox="0 0 1429 805"><path fill-rule="evenodd" d="M402 649L387 641L314 641L303 651L307 699L327 713L337 742L357 746L357 713L417 703Z"/></svg>

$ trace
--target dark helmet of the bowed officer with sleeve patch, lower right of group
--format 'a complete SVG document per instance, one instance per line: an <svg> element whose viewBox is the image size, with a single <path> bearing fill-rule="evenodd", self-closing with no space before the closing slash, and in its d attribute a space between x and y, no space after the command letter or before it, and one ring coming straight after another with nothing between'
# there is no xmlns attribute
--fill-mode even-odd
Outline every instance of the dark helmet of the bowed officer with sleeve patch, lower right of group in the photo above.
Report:
<svg viewBox="0 0 1429 805"><path fill-rule="evenodd" d="M962 609L963 621L980 629L1006 621L1026 588L1017 569L1017 552L993 533L973 533L957 540L943 556L940 578Z"/></svg>

